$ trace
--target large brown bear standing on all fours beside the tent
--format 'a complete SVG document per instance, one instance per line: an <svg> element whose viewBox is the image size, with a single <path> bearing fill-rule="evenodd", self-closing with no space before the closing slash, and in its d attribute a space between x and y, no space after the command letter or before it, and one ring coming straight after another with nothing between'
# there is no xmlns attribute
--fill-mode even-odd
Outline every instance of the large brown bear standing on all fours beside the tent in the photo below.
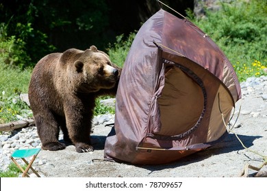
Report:
<svg viewBox="0 0 267 191"><path fill-rule="evenodd" d="M93 151L90 143L95 99L115 94L121 68L104 52L90 46L52 53L36 64L29 83L29 102L42 149L60 150L60 129L64 141L77 152Z"/></svg>

